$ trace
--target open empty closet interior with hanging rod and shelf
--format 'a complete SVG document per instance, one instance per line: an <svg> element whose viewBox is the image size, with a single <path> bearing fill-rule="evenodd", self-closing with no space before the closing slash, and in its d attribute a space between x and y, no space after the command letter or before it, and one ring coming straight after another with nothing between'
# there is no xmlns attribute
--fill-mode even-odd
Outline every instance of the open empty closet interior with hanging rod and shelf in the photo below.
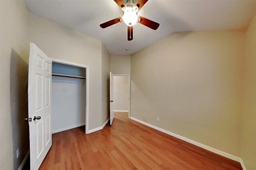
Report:
<svg viewBox="0 0 256 170"><path fill-rule="evenodd" d="M86 68L52 63L52 133L85 125Z"/></svg>

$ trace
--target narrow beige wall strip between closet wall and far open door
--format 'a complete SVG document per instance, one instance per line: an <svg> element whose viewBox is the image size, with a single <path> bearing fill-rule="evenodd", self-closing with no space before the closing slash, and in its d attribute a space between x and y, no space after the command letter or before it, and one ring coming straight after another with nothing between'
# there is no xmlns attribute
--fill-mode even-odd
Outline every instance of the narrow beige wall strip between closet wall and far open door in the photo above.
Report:
<svg viewBox="0 0 256 170"><path fill-rule="evenodd" d="M102 124L110 117L109 105L109 74L110 74L110 54L102 43Z"/></svg>

